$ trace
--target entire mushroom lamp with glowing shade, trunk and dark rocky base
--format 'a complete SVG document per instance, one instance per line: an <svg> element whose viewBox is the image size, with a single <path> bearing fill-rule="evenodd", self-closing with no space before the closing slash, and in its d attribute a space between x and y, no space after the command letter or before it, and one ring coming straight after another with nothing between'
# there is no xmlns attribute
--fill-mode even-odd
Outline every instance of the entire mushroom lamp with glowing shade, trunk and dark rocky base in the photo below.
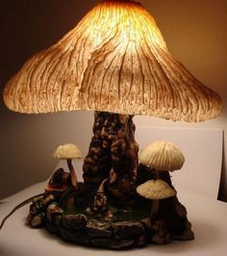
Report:
<svg viewBox="0 0 227 256"><path fill-rule="evenodd" d="M133 116L204 121L220 114L221 99L174 60L139 3L100 1L59 42L24 64L7 84L4 101L27 114L95 111L84 183L75 182L69 165L69 190L34 201L31 225L44 223L64 240L111 249L193 239L186 209L173 194L162 199L160 218L151 222L150 200L137 187L163 180L173 188L167 171L157 178L157 167L139 165Z"/></svg>

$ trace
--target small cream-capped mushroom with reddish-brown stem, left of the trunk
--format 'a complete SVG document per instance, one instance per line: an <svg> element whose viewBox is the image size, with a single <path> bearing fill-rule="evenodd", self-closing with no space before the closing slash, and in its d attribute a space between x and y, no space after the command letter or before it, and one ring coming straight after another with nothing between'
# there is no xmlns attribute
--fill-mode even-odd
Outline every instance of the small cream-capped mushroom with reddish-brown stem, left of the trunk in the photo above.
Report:
<svg viewBox="0 0 227 256"><path fill-rule="evenodd" d="M82 158L80 149L75 144L72 144L72 143L60 145L56 149L55 153L53 154L53 157L57 159L65 159L67 161L67 166L70 171L72 186L75 188L75 190L77 190L78 182L77 182L77 177L76 177L74 167L72 166L72 159Z"/></svg>

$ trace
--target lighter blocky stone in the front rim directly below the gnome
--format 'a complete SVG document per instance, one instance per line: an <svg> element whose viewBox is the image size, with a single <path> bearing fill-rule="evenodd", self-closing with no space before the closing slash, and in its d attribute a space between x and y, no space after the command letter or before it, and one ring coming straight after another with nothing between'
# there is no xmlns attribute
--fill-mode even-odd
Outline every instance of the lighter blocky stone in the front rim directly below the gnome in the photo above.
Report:
<svg viewBox="0 0 227 256"><path fill-rule="evenodd" d="M95 219L88 221L86 231L90 238L111 238L112 227L108 223L101 223Z"/></svg>

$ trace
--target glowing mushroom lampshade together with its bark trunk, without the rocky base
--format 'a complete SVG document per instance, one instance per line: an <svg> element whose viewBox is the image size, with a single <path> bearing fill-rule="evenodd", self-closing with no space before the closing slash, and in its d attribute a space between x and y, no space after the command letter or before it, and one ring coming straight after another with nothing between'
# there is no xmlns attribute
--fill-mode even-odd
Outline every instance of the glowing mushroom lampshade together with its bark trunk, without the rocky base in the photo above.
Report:
<svg viewBox="0 0 227 256"><path fill-rule="evenodd" d="M107 179L105 189L122 205L137 187L134 115L199 122L222 109L214 90L169 53L152 15L131 0L99 1L22 66L6 85L4 101L26 114L94 111L84 182L98 189Z"/></svg>

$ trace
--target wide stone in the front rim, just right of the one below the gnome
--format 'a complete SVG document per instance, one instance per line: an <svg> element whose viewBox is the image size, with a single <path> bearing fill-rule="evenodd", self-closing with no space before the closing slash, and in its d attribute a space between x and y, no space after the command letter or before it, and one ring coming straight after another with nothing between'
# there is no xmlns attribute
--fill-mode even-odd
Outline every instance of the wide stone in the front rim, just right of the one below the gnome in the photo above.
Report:
<svg viewBox="0 0 227 256"><path fill-rule="evenodd" d="M140 222L121 221L113 224L114 238L117 240L141 236L145 230Z"/></svg>

